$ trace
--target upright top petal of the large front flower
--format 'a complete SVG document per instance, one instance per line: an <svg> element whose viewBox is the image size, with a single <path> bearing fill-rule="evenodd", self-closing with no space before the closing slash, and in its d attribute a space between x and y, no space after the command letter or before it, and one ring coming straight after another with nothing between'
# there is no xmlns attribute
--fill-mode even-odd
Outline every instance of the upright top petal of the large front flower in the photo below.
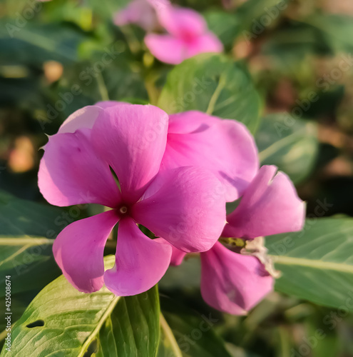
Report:
<svg viewBox="0 0 353 357"><path fill-rule="evenodd" d="M158 173L167 130L168 115L156 106L120 104L98 116L93 144L118 176L126 202L137 201Z"/></svg>

